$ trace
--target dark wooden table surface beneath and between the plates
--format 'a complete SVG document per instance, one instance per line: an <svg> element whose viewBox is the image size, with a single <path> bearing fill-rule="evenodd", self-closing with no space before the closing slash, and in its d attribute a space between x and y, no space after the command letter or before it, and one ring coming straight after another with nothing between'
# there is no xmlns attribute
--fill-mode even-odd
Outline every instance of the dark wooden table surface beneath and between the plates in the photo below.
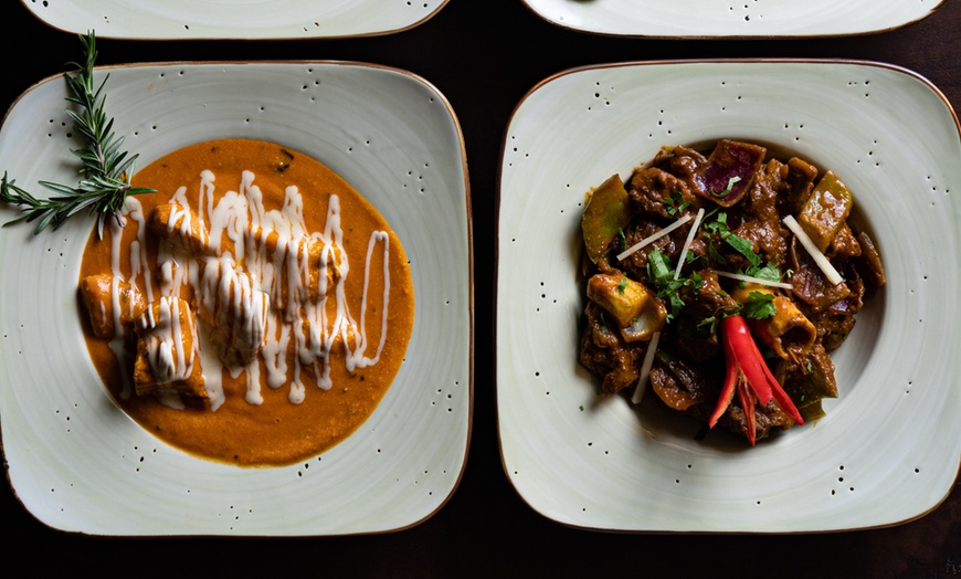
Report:
<svg viewBox="0 0 961 579"><path fill-rule="evenodd" d="M907 0L906 0L907 1ZM7 27L0 107L65 70L73 34L47 28L20 2L0 8ZM496 196L500 146L510 114L539 81L605 62L705 57L839 57L914 70L961 107L961 1L878 34L812 40L647 40L559 29L520 0L450 0L412 30L356 40L207 42L98 39L98 64L207 60L347 60L420 74L451 102L467 148L474 212L475 381L467 467L450 502L413 528L378 536L123 539L59 533L34 519L0 484L8 569L40 576L210 575L635 577L961 576L961 492L904 525L789 536L627 535L567 528L542 518L514 492L500 463L494 372ZM958 159L961 162L961 159ZM961 385L958 385L961 387ZM961 417L958 417L961 420Z"/></svg>

